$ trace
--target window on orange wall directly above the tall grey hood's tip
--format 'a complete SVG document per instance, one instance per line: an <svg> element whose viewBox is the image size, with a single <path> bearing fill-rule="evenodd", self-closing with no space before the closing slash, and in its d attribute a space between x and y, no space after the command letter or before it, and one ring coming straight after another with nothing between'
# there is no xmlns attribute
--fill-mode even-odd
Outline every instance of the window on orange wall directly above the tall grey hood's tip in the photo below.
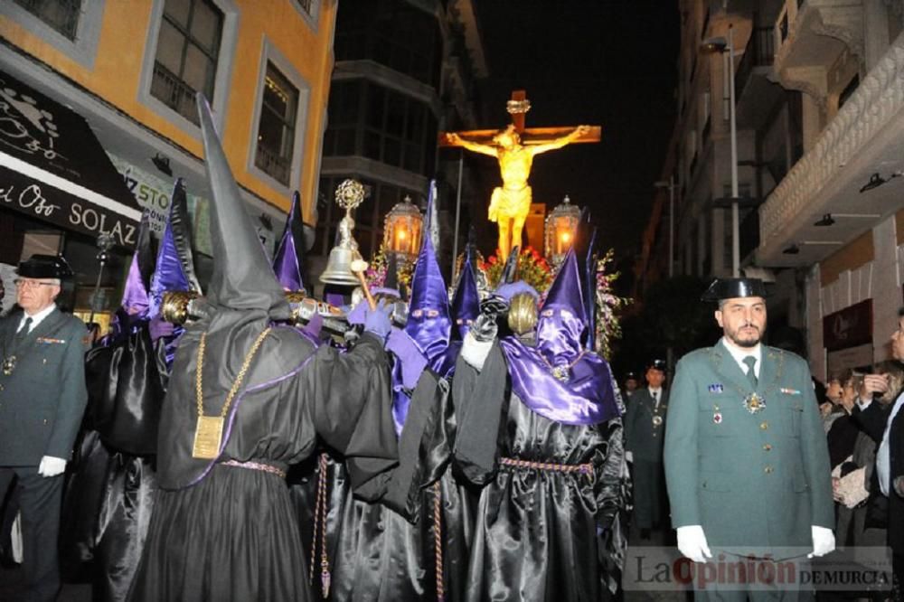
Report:
<svg viewBox="0 0 904 602"><path fill-rule="evenodd" d="M196 92L213 98L223 14L210 0L166 0L151 95L198 123Z"/></svg>

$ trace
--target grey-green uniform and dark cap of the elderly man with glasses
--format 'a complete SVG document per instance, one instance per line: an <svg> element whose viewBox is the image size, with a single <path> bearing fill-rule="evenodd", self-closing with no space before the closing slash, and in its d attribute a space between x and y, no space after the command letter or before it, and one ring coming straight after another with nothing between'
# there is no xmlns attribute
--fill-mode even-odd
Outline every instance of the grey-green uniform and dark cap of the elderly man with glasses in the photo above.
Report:
<svg viewBox="0 0 904 602"><path fill-rule="evenodd" d="M64 260L49 255L35 255L18 269L24 278L71 274ZM39 466L48 457L69 460L88 401L88 332L80 319L50 307L33 327L21 310L0 320L0 499L18 477L25 600L52 600L60 588L63 477L39 474Z"/></svg>

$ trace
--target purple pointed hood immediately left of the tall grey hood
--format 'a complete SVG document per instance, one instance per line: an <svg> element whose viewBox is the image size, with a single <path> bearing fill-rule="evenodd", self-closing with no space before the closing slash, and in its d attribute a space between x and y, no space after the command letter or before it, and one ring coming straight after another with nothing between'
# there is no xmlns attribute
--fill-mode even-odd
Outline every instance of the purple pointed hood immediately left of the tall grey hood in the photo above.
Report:
<svg viewBox="0 0 904 602"><path fill-rule="evenodd" d="M185 240L187 236L184 230L187 224L180 220L185 203L185 186L182 178L179 178L175 181L173 194L170 197L169 218L166 221L164 238L160 241L160 249L157 251L154 277L151 278L148 309L150 317L160 315L160 306L163 303L165 291L192 290L192 283L182 259L184 253L180 252L178 244L179 240ZM187 208L185 212L187 212Z"/></svg>

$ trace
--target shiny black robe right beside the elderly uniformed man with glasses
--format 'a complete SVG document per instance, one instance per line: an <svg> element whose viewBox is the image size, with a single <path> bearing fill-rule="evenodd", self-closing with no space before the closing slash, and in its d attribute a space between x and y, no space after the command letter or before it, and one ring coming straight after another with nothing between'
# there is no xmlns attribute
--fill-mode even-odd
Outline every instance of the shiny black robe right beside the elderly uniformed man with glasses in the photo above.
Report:
<svg viewBox="0 0 904 602"><path fill-rule="evenodd" d="M97 602L126 599L144 547L167 370L147 321L121 311L118 320L108 344L86 355L89 408L63 503L67 573L90 561Z"/></svg>

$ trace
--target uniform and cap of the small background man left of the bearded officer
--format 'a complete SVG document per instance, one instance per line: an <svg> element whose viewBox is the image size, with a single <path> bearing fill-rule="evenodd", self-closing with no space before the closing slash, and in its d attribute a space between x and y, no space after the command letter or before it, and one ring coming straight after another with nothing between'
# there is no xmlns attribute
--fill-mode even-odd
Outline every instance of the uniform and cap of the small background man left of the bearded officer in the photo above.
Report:
<svg viewBox="0 0 904 602"><path fill-rule="evenodd" d="M665 362L654 360L649 370L665 372ZM655 396L655 397L654 397ZM647 537L664 511L663 442L668 391L664 387L635 390L625 415L625 445L634 459L634 523Z"/></svg>

